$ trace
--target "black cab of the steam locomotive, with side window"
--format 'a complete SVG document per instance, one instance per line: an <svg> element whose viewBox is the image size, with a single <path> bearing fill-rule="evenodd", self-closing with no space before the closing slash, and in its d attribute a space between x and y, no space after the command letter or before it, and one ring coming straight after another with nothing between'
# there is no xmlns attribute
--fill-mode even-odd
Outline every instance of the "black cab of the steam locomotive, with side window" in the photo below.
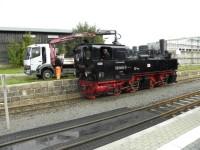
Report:
<svg viewBox="0 0 200 150"><path fill-rule="evenodd" d="M75 50L76 76L88 81L120 79L126 69L124 45L87 44Z"/></svg>

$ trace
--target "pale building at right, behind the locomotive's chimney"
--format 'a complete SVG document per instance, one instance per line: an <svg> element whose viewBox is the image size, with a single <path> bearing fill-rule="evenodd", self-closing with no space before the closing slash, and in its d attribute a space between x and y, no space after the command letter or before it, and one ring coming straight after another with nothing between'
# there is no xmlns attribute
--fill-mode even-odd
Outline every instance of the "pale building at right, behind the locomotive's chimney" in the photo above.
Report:
<svg viewBox="0 0 200 150"><path fill-rule="evenodd" d="M148 48L159 49L159 42L148 43ZM200 37L167 40L167 50L179 64L200 64Z"/></svg>

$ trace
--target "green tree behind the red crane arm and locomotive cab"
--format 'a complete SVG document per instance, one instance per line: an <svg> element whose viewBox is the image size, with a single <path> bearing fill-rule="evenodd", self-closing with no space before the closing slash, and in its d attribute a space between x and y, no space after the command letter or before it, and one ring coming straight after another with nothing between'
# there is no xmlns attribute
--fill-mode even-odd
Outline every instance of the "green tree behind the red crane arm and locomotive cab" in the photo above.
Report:
<svg viewBox="0 0 200 150"><path fill-rule="evenodd" d="M82 33L82 32L97 32L96 26L90 26L87 22L85 23L79 23L76 28L73 29L73 33ZM71 57L73 56L73 49L81 44L84 43L84 41L88 41L89 43L104 43L103 36L95 36L95 37L84 37L75 39L72 41L67 41L65 44L65 48L62 46L59 46L61 50L59 52L65 53L65 57Z"/></svg>

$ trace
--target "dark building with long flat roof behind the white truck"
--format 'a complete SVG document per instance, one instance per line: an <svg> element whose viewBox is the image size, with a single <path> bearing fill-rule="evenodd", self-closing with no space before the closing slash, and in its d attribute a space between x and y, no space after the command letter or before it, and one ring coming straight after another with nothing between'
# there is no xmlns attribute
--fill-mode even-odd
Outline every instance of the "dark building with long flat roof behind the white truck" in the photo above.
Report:
<svg viewBox="0 0 200 150"><path fill-rule="evenodd" d="M8 45L19 42L27 33L35 38L37 43L48 43L49 40L59 36L69 35L71 30L39 29L39 28L5 28L0 27L0 64L8 64Z"/></svg>

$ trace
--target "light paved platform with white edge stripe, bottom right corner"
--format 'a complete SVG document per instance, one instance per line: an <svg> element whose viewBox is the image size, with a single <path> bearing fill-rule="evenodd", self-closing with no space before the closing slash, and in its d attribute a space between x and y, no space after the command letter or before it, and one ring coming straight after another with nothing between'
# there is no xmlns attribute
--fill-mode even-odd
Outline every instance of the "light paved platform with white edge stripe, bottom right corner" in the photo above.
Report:
<svg viewBox="0 0 200 150"><path fill-rule="evenodd" d="M200 150L200 107L96 150Z"/></svg>

